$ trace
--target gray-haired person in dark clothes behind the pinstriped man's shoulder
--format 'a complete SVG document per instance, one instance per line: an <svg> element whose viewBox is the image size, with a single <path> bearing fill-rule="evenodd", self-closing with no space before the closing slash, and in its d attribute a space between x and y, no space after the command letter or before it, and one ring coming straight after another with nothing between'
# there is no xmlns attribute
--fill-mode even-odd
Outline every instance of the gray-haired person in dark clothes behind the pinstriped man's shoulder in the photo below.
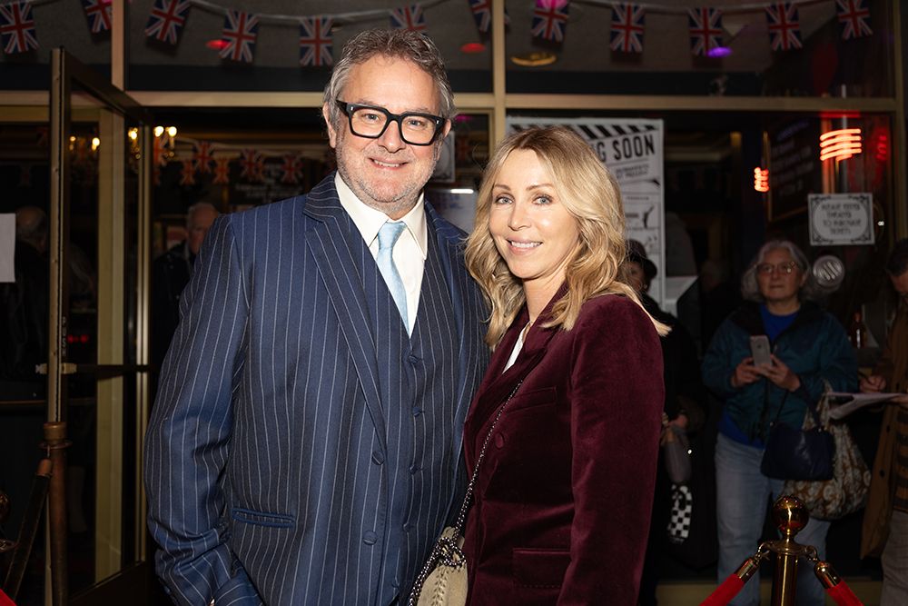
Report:
<svg viewBox="0 0 908 606"><path fill-rule="evenodd" d="M213 204L192 204L186 211L186 239L152 263L152 363L158 368L180 323L180 297L192 264L219 214Z"/></svg>

